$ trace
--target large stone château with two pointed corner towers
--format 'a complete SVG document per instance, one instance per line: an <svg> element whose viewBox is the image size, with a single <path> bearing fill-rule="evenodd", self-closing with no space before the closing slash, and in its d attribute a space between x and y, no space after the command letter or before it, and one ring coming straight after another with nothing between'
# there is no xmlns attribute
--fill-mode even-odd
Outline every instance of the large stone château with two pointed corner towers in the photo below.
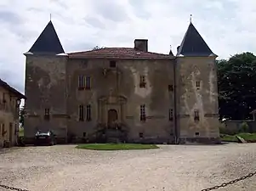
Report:
<svg viewBox="0 0 256 191"><path fill-rule="evenodd" d="M50 21L26 55L25 138L219 142L215 55L190 23L176 56L134 48L65 53Z"/></svg>

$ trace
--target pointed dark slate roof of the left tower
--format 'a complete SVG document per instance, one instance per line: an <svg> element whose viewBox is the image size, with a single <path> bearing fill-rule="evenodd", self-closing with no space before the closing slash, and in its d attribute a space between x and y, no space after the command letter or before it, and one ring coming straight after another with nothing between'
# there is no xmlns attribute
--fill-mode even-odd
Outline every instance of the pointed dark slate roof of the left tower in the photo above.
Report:
<svg viewBox="0 0 256 191"><path fill-rule="evenodd" d="M46 25L29 52L49 54L65 53L52 21L48 22L48 25Z"/></svg>

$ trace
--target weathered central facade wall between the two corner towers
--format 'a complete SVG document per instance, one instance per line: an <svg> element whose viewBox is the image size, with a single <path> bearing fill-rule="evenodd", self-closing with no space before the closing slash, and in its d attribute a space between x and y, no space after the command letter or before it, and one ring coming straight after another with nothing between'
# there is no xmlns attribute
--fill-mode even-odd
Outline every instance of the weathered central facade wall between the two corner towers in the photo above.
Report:
<svg viewBox="0 0 256 191"><path fill-rule="evenodd" d="M173 109L174 95L168 85L174 85L172 60L116 60L117 68L110 67L108 59L70 59L68 79L68 131L82 137L91 134L97 123L107 122L108 110L118 113L118 122L128 126L128 138L172 139L174 121L168 120ZM91 89L78 90L78 76L91 76ZM140 76L145 76L145 88L139 87ZM92 121L78 121L79 104L92 105ZM145 104L146 121L140 121L140 105ZM143 138L142 138L143 139Z"/></svg>

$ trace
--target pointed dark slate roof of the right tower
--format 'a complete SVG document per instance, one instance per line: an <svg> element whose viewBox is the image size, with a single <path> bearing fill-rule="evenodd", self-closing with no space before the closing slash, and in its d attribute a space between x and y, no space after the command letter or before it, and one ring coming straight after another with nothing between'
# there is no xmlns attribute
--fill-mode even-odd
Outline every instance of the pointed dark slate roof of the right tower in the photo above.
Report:
<svg viewBox="0 0 256 191"><path fill-rule="evenodd" d="M179 46L177 56L211 56L215 55L191 23Z"/></svg>

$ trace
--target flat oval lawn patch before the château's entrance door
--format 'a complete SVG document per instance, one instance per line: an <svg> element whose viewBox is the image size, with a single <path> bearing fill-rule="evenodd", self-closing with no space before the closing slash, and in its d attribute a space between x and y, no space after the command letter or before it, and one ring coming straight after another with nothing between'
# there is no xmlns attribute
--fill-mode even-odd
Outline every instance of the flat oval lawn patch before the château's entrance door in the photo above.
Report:
<svg viewBox="0 0 256 191"><path fill-rule="evenodd" d="M92 143L79 144L77 149L91 150L130 150L130 149L159 149L155 144L137 144L137 143Z"/></svg>

